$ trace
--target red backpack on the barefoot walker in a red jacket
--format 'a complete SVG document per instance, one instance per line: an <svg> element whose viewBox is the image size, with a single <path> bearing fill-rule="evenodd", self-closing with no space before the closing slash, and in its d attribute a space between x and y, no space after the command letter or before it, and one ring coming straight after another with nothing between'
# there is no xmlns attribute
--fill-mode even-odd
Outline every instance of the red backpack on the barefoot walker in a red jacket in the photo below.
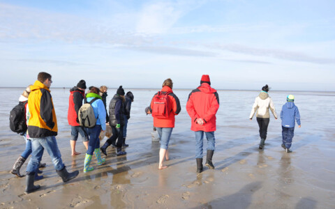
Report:
<svg viewBox="0 0 335 209"><path fill-rule="evenodd" d="M170 93L172 93L172 91L168 91L166 93L158 91L158 93L154 96L151 113L154 118L169 118L171 107L170 98L168 95Z"/></svg>

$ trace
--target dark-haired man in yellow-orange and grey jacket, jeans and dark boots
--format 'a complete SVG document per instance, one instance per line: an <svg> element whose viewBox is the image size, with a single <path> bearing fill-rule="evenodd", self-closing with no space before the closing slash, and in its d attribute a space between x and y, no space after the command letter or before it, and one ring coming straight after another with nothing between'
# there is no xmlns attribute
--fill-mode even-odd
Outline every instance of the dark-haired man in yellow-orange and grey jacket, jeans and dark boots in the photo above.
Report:
<svg viewBox="0 0 335 209"><path fill-rule="evenodd" d="M64 182L75 178L79 174L79 171L68 173L61 160L61 152L55 137L57 136L58 128L49 89L51 84L51 75L47 72L40 72L38 73L37 81L30 88L28 106L31 117L28 122L28 133L33 153L31 153L31 159L27 166L26 193L34 192L40 188L40 185L34 185L34 176L44 149L47 150L54 164L54 169L56 169L57 174Z"/></svg>

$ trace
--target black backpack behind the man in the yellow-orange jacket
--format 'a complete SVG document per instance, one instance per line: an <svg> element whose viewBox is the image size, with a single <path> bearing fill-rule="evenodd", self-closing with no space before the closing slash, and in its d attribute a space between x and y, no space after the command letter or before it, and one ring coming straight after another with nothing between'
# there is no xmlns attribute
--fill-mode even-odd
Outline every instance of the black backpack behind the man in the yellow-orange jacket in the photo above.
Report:
<svg viewBox="0 0 335 209"><path fill-rule="evenodd" d="M9 115L10 130L17 134L24 134L27 132L26 114L24 106L26 102L19 102L11 111Z"/></svg>

